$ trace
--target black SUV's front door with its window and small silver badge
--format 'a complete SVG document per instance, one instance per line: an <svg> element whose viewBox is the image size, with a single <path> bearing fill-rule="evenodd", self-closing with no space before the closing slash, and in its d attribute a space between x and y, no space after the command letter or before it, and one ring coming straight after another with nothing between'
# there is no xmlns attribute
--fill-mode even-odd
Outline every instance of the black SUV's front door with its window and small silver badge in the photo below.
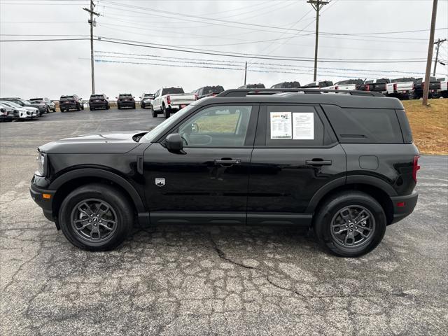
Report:
<svg viewBox="0 0 448 336"><path fill-rule="evenodd" d="M176 126L183 152L163 141L144 153L151 223L246 222L258 106L206 106Z"/></svg>

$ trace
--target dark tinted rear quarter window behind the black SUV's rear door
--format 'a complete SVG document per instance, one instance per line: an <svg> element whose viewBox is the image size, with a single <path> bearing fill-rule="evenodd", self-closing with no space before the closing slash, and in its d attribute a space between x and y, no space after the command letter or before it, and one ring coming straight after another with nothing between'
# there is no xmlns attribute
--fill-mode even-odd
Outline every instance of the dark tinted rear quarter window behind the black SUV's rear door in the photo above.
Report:
<svg viewBox="0 0 448 336"><path fill-rule="evenodd" d="M325 114L342 143L402 144L403 137L393 109L348 109L324 105Z"/></svg>

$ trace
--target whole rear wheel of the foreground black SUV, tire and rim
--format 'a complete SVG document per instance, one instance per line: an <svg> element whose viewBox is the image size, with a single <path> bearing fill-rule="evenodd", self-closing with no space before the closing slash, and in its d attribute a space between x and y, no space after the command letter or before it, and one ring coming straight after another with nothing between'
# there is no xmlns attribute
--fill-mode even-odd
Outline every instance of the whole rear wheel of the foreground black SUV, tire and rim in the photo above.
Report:
<svg viewBox="0 0 448 336"><path fill-rule="evenodd" d="M314 232L330 253L358 257L378 246L386 232L386 214L370 195L348 191L330 197L314 218Z"/></svg>

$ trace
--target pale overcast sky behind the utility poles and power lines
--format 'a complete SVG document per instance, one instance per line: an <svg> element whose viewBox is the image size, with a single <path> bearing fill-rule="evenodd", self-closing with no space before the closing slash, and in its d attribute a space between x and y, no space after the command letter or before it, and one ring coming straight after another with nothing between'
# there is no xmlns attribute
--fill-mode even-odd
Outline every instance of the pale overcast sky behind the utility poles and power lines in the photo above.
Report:
<svg viewBox="0 0 448 336"><path fill-rule="evenodd" d="M312 81L316 13L306 0L99 0L94 35L164 48L214 50L301 61L202 55L94 41L96 91L139 97L162 86L190 92L204 85L270 87L285 80ZM423 60L433 1L331 0L320 17L319 58ZM87 38L87 0L0 0L1 40ZM439 1L435 38L447 38L448 1ZM415 31L417 30L417 31ZM414 31L394 33L395 31ZM372 34L374 33L374 34ZM393 33L393 34L377 34ZM45 35L45 36L44 36ZM114 38L115 40L111 40ZM134 42L132 42L134 43ZM90 41L0 43L0 96L49 97L91 92ZM434 55L435 57L435 55ZM448 43L440 48L448 59ZM163 65L159 65L163 64ZM186 67L188 66L188 67ZM207 68L204 68L207 67ZM426 62L319 62L318 79L423 76ZM226 69L216 69L226 68ZM395 72L391 72L395 71ZM437 65L438 77L447 66Z"/></svg>

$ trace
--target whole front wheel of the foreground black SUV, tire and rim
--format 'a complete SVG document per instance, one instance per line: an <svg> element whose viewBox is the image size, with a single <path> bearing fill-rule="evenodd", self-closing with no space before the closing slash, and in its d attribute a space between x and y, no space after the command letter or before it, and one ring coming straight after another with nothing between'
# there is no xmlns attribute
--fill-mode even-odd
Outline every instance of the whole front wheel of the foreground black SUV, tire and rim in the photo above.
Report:
<svg viewBox="0 0 448 336"><path fill-rule="evenodd" d="M74 246L107 251L120 245L130 232L132 205L116 188L89 184L73 190L64 199L59 223Z"/></svg>

